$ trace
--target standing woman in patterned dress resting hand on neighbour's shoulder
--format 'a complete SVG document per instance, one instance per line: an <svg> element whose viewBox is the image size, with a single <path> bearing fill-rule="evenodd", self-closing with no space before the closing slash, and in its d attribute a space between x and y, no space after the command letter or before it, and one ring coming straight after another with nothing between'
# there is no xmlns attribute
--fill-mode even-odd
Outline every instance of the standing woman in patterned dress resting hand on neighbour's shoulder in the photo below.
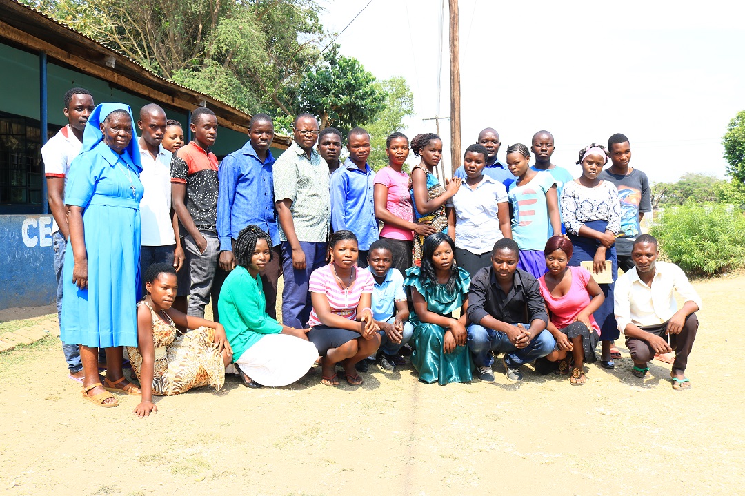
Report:
<svg viewBox="0 0 745 496"><path fill-rule="evenodd" d="M455 225L451 198L460 189L461 179L446 179L443 189L440 181L432 173L443 157L443 141L440 136L431 132L416 135L411 140L410 148L416 157L422 158L419 165L411 170L408 184L414 222L431 225L435 232L446 233L453 239L455 230L448 228L448 218L452 219L450 225ZM422 245L425 237L416 233L413 239L413 263L416 267L422 265Z"/></svg>

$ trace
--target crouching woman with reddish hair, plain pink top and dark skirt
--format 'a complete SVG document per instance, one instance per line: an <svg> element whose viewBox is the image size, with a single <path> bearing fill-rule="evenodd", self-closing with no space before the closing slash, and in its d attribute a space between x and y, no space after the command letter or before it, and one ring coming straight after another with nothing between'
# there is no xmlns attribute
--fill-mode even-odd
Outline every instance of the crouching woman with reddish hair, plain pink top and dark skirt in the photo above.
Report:
<svg viewBox="0 0 745 496"><path fill-rule="evenodd" d="M571 241L564 236L551 236L543 251L548 272L538 283L550 316L546 329L557 340L557 349L546 359L559 361L561 375L568 374L571 367L571 385L581 386L587 381L583 365L597 361L595 346L600 327L592 312L605 297L589 271L567 266L572 251Z"/></svg>

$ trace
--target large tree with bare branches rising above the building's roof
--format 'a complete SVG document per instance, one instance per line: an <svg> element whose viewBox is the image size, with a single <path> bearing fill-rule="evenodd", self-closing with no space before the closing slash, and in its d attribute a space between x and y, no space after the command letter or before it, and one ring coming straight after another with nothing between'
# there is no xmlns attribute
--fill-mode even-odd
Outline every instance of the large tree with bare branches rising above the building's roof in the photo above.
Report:
<svg viewBox="0 0 745 496"><path fill-rule="evenodd" d="M291 114L326 32L317 0L30 0L159 76L256 113Z"/></svg>

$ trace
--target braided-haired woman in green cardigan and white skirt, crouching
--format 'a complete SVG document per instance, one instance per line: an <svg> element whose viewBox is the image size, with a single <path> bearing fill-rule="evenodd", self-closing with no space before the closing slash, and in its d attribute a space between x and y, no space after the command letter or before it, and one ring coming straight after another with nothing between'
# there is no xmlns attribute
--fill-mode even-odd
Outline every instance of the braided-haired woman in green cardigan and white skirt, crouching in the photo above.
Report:
<svg viewBox="0 0 745 496"><path fill-rule="evenodd" d="M267 315L259 272L273 257L272 239L250 225L238 233L233 254L237 265L223 283L218 309L236 373L246 387L292 384L318 352L305 335L310 329L283 326Z"/></svg>

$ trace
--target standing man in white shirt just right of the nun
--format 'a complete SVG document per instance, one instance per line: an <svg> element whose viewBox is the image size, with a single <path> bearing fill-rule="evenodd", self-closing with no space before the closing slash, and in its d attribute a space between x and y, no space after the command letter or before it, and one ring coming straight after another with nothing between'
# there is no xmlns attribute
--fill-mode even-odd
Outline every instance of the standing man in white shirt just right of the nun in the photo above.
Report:
<svg viewBox="0 0 745 496"><path fill-rule="evenodd" d="M140 109L139 144L142 173L140 181L145 194L140 201L142 245L140 250L140 279L145 291L145 271L153 263L169 263L176 271L182 270L183 248L176 216L171 208L171 156L163 148L165 111L155 103Z"/></svg>

